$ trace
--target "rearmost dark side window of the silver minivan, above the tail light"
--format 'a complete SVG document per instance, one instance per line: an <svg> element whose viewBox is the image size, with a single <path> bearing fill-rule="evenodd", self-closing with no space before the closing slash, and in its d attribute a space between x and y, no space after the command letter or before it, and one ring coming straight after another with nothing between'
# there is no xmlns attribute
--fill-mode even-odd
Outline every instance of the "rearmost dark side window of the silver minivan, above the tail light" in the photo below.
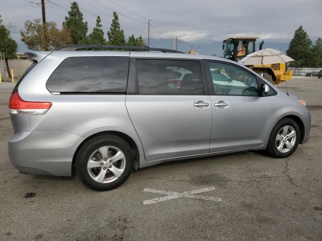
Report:
<svg viewBox="0 0 322 241"><path fill-rule="evenodd" d="M50 92L126 92L129 57L66 58L49 77Z"/></svg>

